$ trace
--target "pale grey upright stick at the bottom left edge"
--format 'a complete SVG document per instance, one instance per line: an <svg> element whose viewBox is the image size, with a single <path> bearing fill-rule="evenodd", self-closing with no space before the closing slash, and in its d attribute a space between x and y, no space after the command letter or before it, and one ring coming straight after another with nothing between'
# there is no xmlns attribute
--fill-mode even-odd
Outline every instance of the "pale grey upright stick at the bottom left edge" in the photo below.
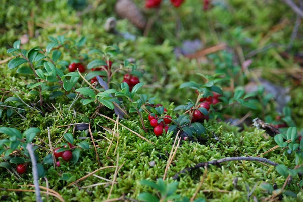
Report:
<svg viewBox="0 0 303 202"><path fill-rule="evenodd" d="M34 185L36 190L36 202L43 202L41 198L40 187L39 187L39 174L38 174L36 156L34 154L33 146L31 145L31 143L27 144L26 149L28 150L32 162L32 171L33 171Z"/></svg>

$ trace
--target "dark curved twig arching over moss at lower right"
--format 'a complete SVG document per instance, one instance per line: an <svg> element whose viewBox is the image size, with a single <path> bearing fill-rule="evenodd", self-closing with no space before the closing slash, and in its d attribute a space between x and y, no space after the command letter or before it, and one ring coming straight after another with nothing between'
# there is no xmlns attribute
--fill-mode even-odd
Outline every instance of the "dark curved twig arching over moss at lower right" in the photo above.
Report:
<svg viewBox="0 0 303 202"><path fill-rule="evenodd" d="M179 175L181 173L189 172L192 170L199 169L201 167L209 166L209 165L219 165L220 163L228 162L228 161L258 161L258 162L264 162L267 164L270 164L272 166L278 166L279 164L273 161L270 161L266 158L260 158L260 157L226 157L223 159L218 159L218 160L213 160L213 161L208 161L208 162L202 162L198 163L197 165L190 167L190 168L185 168L184 170L181 170L180 172L176 173L173 179L178 179Z"/></svg>

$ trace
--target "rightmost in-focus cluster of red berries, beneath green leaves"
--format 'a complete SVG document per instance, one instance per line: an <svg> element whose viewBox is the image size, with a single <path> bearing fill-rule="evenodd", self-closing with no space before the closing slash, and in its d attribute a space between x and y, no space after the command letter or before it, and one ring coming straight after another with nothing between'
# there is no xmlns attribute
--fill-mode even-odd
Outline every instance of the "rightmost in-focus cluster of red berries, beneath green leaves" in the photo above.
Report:
<svg viewBox="0 0 303 202"><path fill-rule="evenodd" d="M199 93L198 91L196 91L197 93ZM205 108L207 111L210 110L211 108L211 104L217 104L218 102L220 102L219 100L219 97L221 96L219 93L215 93L213 92L214 96L208 96L206 98L201 98L199 100L199 102L201 102L199 104L199 107L203 107ZM204 115L200 110L196 109L194 110L193 112L193 117L192 117L192 120L191 122L203 122L204 120L208 120L209 119L209 116L208 115Z"/></svg>

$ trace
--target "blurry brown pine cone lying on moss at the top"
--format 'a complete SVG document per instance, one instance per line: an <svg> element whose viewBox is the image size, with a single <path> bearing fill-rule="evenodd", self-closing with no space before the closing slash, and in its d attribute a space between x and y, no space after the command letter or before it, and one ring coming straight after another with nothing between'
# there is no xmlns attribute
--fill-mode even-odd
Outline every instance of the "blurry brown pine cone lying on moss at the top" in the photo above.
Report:
<svg viewBox="0 0 303 202"><path fill-rule="evenodd" d="M140 9L131 0L118 0L115 5L115 12L121 18L127 18L136 27L144 29L146 20Z"/></svg>

